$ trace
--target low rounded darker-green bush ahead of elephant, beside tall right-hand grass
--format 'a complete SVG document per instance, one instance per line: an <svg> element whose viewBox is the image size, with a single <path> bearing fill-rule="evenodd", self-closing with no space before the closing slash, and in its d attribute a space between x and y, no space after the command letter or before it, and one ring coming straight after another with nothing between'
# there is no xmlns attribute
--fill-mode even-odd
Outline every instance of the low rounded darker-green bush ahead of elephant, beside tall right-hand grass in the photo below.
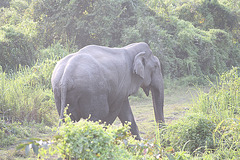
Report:
<svg viewBox="0 0 240 160"><path fill-rule="evenodd" d="M189 153L214 149L216 146L212 133L215 127L216 125L204 115L189 115L166 128L163 144L166 146L170 144L175 151Z"/></svg>

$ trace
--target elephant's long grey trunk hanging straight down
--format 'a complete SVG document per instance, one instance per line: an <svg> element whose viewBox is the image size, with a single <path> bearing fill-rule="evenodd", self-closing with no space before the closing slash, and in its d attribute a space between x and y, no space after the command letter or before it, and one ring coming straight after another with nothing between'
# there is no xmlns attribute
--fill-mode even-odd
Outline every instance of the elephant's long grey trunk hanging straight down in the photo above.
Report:
<svg viewBox="0 0 240 160"><path fill-rule="evenodd" d="M163 81L158 87L151 87L153 107L156 123L164 123L163 104L164 104L164 87Z"/></svg>

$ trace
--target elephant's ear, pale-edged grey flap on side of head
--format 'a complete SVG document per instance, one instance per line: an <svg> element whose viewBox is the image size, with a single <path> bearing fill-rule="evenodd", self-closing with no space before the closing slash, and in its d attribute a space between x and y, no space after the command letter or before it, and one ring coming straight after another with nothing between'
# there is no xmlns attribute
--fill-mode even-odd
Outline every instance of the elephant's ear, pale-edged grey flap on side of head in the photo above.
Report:
<svg viewBox="0 0 240 160"><path fill-rule="evenodd" d="M135 56L133 61L133 73L136 73L142 78L144 78L145 55L146 52L140 52Z"/></svg>

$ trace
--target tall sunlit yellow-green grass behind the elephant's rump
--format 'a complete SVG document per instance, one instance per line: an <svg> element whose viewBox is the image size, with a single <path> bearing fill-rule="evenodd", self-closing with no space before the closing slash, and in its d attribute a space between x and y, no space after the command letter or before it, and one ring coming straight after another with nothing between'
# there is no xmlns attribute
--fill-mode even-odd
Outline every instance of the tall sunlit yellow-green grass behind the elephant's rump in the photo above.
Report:
<svg viewBox="0 0 240 160"><path fill-rule="evenodd" d="M68 51L56 44L38 52L39 59L32 67L20 65L18 71L11 73L3 72L0 67L0 147L31 136L16 132L18 128L57 123L51 75L57 61Z"/></svg>

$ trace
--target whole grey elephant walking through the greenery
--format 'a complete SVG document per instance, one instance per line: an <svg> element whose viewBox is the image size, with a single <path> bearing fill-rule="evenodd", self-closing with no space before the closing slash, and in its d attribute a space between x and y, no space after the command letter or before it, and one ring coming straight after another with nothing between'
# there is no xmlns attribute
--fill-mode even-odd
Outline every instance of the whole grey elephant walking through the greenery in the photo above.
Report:
<svg viewBox="0 0 240 160"><path fill-rule="evenodd" d="M144 42L123 48L86 46L57 63L51 82L60 119L69 104L73 121L91 115L92 121L112 124L119 117L123 124L131 122L131 133L140 139L128 96L141 87L146 95L151 90L156 122L164 122L160 62Z"/></svg>

